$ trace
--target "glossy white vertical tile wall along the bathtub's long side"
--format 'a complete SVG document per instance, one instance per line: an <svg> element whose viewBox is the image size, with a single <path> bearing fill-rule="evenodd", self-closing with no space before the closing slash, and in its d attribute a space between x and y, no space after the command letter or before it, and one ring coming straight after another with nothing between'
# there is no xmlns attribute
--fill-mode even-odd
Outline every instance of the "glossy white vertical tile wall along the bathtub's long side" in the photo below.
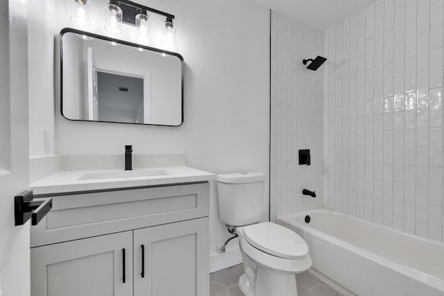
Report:
<svg viewBox="0 0 444 296"><path fill-rule="evenodd" d="M324 39L325 206L436 241L444 241L443 4L379 0Z"/></svg>

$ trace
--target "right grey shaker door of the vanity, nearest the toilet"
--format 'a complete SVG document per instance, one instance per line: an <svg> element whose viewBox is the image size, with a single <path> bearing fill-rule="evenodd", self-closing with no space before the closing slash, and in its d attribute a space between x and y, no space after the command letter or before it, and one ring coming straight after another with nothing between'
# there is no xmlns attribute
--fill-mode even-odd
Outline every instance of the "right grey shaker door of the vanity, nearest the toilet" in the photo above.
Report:
<svg viewBox="0 0 444 296"><path fill-rule="evenodd" d="M135 230L134 295L208 296L208 223L200 218Z"/></svg>

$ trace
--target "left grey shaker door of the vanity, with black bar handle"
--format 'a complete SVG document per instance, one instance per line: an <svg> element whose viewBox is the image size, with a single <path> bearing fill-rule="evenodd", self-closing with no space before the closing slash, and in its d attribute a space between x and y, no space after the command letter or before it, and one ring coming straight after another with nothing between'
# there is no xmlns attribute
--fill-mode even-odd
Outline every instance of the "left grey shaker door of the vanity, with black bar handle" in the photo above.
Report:
<svg viewBox="0 0 444 296"><path fill-rule="evenodd" d="M31 295L133 295L133 232L32 248Z"/></svg>

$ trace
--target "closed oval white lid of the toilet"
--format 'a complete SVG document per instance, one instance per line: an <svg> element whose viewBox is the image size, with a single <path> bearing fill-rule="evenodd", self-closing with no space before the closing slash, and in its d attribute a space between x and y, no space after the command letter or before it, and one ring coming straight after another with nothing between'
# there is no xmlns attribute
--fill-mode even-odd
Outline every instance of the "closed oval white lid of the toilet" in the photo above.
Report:
<svg viewBox="0 0 444 296"><path fill-rule="evenodd" d="M285 259L303 259L308 254L307 243L287 227L264 222L243 230L246 241L267 254Z"/></svg>

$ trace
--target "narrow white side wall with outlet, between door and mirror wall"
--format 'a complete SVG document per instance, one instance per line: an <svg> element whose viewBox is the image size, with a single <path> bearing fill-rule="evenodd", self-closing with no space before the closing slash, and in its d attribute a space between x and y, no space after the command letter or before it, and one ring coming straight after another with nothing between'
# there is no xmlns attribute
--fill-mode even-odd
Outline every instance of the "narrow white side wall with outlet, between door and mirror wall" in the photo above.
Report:
<svg viewBox="0 0 444 296"><path fill-rule="evenodd" d="M54 155L54 4L28 1L29 155ZM44 130L50 150L44 151Z"/></svg>

